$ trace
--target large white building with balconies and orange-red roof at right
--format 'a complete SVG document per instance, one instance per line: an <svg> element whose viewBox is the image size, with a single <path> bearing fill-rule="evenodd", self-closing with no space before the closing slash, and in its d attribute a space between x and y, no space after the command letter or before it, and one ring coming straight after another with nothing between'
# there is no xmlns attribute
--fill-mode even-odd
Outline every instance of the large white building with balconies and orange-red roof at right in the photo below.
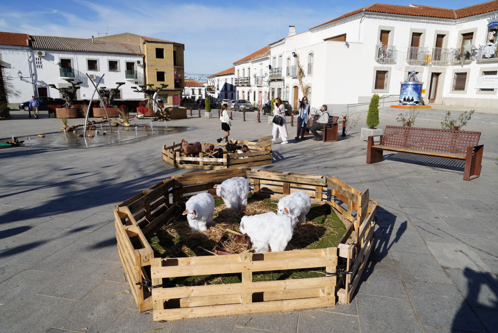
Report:
<svg viewBox="0 0 498 333"><path fill-rule="evenodd" d="M270 44L270 57L278 64L282 55L284 98L294 106L302 98L295 50L312 107L328 104L343 112L348 104L368 103L374 93L381 102L396 100L400 81L413 68L425 82L425 104L490 107L497 89L479 89L476 82L480 75L497 74L496 48L485 52L497 13L498 1L456 10L375 3L303 33L291 28L289 36Z"/></svg>

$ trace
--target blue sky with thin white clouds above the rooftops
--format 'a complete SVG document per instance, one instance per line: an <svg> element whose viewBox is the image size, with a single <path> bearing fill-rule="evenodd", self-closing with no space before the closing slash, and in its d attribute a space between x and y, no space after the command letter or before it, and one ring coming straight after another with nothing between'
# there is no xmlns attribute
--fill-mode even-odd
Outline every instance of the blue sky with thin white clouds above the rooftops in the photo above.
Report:
<svg viewBox="0 0 498 333"><path fill-rule="evenodd" d="M302 32L374 1L2 0L0 31L90 38L131 32L185 44L185 72L213 74L278 40L289 25ZM461 8L484 0L378 1ZM107 25L108 24L108 25ZM102 34L101 34L102 35Z"/></svg>

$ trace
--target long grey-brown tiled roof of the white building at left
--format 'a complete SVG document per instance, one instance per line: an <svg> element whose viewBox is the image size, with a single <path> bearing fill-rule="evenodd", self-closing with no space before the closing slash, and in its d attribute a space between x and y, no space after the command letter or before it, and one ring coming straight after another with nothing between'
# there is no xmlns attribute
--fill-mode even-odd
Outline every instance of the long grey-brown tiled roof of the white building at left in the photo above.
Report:
<svg viewBox="0 0 498 333"><path fill-rule="evenodd" d="M142 54L139 45L91 38L32 36L31 47L41 50Z"/></svg>

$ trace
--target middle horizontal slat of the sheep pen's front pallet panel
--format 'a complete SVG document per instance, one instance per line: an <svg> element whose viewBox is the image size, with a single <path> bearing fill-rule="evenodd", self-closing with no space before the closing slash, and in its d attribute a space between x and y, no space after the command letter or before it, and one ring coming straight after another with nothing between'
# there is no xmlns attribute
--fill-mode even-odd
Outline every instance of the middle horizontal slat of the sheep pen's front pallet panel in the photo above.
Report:
<svg viewBox="0 0 498 333"><path fill-rule="evenodd" d="M333 287L335 285L335 277L321 277L306 279L287 279L278 281L261 281L251 282L248 284L233 283L224 285L155 288L152 290L152 299L176 299L184 297L233 295L241 293L258 293L280 290L315 289Z"/></svg>

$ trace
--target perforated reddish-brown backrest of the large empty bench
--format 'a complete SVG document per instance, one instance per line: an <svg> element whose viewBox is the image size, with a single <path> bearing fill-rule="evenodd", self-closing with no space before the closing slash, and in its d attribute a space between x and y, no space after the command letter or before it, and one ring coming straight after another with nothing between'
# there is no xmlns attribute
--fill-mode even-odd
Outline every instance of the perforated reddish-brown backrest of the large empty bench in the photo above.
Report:
<svg viewBox="0 0 498 333"><path fill-rule="evenodd" d="M467 147L479 145L480 137L481 132L386 126L380 144L433 152L466 154Z"/></svg>

